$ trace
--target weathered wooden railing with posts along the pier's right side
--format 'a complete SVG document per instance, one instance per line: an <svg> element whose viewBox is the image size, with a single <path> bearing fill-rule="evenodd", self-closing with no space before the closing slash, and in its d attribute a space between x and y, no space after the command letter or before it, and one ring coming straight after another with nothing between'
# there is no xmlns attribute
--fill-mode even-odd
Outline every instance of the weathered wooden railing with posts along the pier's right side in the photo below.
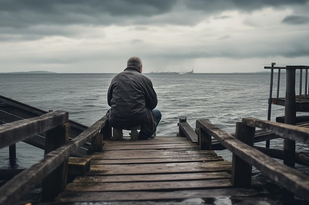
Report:
<svg viewBox="0 0 309 205"><path fill-rule="evenodd" d="M179 123L180 136L191 135L186 132L184 122ZM287 193L309 201L309 176L290 168L253 147L255 128L262 128L274 134L293 141L309 144L309 129L297 127L268 120L255 118L243 118L242 122L236 123L235 137L216 127L208 119L196 120L196 132L201 149L211 150L211 138L218 140L229 149L232 156L232 184L235 187L251 186L252 166L256 167L264 175L281 184ZM294 157L291 155L289 157ZM294 195L283 194L283 204L291 204Z"/></svg>

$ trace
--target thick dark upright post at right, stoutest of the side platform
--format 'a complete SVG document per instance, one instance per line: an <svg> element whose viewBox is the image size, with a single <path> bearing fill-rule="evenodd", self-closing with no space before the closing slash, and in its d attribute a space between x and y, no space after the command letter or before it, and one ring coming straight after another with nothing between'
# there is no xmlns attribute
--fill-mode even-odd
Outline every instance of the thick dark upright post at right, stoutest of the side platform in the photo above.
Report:
<svg viewBox="0 0 309 205"><path fill-rule="evenodd" d="M296 96L295 96L295 68L286 69L286 93L284 123L295 125L296 123ZM295 168L295 141L284 139L284 164ZM294 194L288 190L283 191L283 203L293 204Z"/></svg>

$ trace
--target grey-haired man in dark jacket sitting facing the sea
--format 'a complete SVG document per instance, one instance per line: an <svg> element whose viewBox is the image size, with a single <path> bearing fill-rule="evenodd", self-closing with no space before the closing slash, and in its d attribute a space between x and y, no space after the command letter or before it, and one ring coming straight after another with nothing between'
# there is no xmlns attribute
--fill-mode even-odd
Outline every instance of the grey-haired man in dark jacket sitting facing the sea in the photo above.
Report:
<svg viewBox="0 0 309 205"><path fill-rule="evenodd" d="M140 124L139 140L153 137L161 119L160 111L154 110L157 98L153 84L142 75L142 67L140 58L128 59L127 68L113 78L107 96L110 125L123 129Z"/></svg>

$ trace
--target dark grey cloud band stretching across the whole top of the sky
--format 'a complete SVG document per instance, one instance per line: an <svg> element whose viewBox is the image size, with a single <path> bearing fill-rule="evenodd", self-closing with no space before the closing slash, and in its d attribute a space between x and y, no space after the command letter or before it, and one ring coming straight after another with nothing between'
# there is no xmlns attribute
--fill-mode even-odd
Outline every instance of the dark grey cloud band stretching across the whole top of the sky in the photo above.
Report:
<svg viewBox="0 0 309 205"><path fill-rule="evenodd" d="M208 15L225 10L252 11L267 6L304 4L308 0L0 0L0 27L24 28L33 25L125 25L145 17L169 13L176 5L205 11ZM185 15L185 13L184 13ZM127 18L130 17L130 18ZM184 16L183 16L184 17ZM178 18L165 23L182 24ZM148 18L148 19L147 19ZM191 16L192 18L192 16ZM176 21L178 20L178 22ZM176 21L176 22L174 22ZM164 21L162 21L164 22ZM190 23L190 22L188 22Z"/></svg>

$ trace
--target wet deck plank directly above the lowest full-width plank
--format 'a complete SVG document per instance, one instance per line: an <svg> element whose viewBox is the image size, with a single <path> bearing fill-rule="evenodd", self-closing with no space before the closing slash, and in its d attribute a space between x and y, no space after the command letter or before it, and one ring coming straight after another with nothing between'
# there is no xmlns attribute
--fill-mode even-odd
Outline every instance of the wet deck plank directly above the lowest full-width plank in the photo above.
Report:
<svg viewBox="0 0 309 205"><path fill-rule="evenodd" d="M148 181L127 183L69 183L66 191L145 191L145 190L179 190L200 188L228 188L232 183L230 179L190 180L190 181Z"/></svg>

